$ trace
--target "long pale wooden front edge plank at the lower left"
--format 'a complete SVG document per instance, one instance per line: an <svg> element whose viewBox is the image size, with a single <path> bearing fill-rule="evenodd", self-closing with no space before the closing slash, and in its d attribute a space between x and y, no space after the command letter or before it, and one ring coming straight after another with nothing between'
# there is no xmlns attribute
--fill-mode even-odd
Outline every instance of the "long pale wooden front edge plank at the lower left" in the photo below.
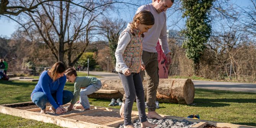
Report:
<svg viewBox="0 0 256 128"><path fill-rule="evenodd" d="M0 112L8 115L18 116L26 119L42 121L46 123L53 123L67 128L113 128L104 125L98 125L88 122L79 122L68 118L57 117L48 114L41 114L37 112L30 112L27 110L14 109L10 107L0 106Z"/></svg>

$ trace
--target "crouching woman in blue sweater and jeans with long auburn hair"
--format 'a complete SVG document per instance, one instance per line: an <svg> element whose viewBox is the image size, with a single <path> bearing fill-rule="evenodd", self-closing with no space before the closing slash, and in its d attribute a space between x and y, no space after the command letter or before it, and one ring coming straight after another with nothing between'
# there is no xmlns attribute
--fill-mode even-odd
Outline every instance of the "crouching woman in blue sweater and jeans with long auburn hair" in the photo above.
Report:
<svg viewBox="0 0 256 128"><path fill-rule="evenodd" d="M66 83L64 72L66 66L62 62L55 63L50 71L44 71L39 77L38 84L31 94L31 100L40 107L41 113L46 113L46 103L52 105L50 110L54 113L65 113L62 107L73 99L73 93L63 90Z"/></svg>

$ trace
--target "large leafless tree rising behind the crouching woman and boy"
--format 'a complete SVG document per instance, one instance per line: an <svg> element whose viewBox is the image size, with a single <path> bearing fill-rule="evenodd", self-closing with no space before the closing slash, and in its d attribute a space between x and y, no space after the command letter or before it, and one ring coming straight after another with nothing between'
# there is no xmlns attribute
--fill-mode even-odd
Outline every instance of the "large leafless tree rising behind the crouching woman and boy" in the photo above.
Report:
<svg viewBox="0 0 256 128"><path fill-rule="evenodd" d="M109 0L101 0L95 3L91 0L85 2L84 6L94 8L108 2ZM34 13L24 12L26 15L20 16L17 20L20 23L25 21L22 23L23 29L31 40L35 38L32 31L36 31L57 61L65 62L64 58L67 55L68 66L73 66L85 52L90 39L94 36L93 31L98 26L96 20L107 7L88 11L70 5L70 2L51 2L38 6Z"/></svg>

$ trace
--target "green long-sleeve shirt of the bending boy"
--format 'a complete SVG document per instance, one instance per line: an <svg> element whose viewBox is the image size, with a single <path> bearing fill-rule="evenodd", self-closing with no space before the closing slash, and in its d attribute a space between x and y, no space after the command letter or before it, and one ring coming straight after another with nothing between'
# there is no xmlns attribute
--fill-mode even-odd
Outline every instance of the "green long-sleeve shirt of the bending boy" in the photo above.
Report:
<svg viewBox="0 0 256 128"><path fill-rule="evenodd" d="M75 79L75 84L74 84L74 97L71 101L71 104L75 104L75 102L77 101L77 97L80 94L81 88L85 88L88 87L91 84L98 84L101 83L101 81L99 79L97 79L96 77L91 77L91 76L77 76Z"/></svg>

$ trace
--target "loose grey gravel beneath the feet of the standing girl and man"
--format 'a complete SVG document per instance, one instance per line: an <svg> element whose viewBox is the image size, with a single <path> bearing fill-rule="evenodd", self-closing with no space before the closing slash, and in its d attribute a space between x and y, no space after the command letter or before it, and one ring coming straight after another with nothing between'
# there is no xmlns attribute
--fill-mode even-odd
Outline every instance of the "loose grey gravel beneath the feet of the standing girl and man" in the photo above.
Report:
<svg viewBox="0 0 256 128"><path fill-rule="evenodd" d="M153 124L158 124L157 127L155 128L190 128L191 126L197 124L197 123L189 122L188 120L183 120L182 122L179 122L178 120L170 120L170 119L157 120L157 119L149 119L149 118L148 118L148 122ZM140 120L139 119L135 120L133 125L135 128L140 128ZM121 124L119 128L124 128L124 125Z"/></svg>

